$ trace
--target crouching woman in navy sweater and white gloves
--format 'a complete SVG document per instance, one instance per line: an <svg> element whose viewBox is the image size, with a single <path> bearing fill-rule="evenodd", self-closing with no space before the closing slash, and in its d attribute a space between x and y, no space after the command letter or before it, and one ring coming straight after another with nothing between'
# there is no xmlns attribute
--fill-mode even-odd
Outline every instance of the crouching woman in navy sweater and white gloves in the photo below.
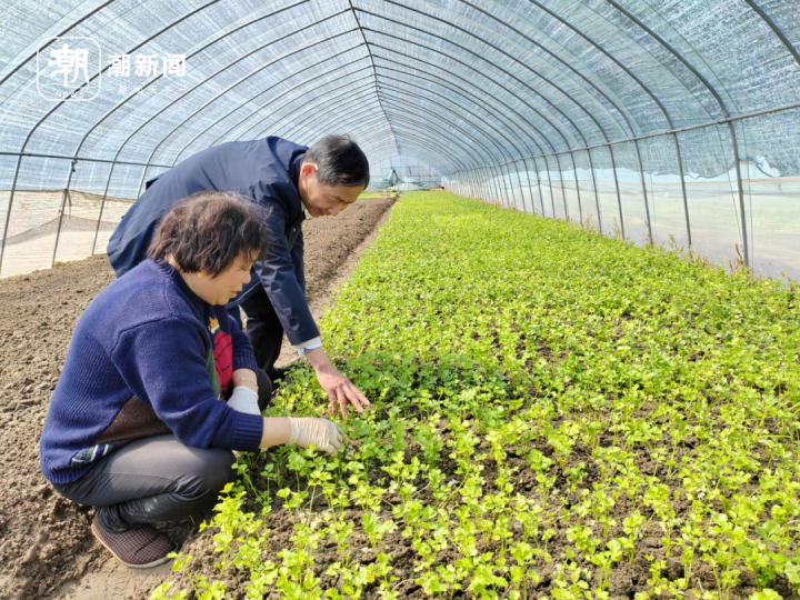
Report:
<svg viewBox="0 0 800 600"><path fill-rule="evenodd" d="M92 532L129 567L168 560L174 547L152 523L213 507L233 477L232 450L314 443L336 454L342 442L327 419L261 416L269 379L226 303L250 281L266 236L253 204L196 196L78 321L41 469L60 494L98 508Z"/></svg>

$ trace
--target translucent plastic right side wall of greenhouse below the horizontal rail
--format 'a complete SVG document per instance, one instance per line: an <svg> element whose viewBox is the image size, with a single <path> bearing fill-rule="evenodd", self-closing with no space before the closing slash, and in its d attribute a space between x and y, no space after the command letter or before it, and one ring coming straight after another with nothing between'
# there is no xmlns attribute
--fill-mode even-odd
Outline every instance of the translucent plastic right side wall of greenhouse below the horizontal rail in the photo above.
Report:
<svg viewBox="0 0 800 600"><path fill-rule="evenodd" d="M800 176L748 153L774 136L784 164L799 163L800 110L730 122L738 160L729 126L714 123L563 152L561 164L572 167L566 171L547 168L558 157L551 154L457 172L446 179L446 188L639 244L691 251L727 268L800 279ZM684 152L678 154L677 148ZM709 164L719 172L711 174Z"/></svg>

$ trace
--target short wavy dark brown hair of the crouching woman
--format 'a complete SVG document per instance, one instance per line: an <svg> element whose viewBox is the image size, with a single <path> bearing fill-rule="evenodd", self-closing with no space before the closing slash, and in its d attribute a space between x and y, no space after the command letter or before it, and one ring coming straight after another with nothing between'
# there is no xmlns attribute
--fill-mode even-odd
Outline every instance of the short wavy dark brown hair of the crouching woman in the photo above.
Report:
<svg viewBox="0 0 800 600"><path fill-rule="evenodd" d="M213 277L242 252L261 254L268 236L261 210L234 192L197 192L161 219L148 257L171 256L181 271Z"/></svg>

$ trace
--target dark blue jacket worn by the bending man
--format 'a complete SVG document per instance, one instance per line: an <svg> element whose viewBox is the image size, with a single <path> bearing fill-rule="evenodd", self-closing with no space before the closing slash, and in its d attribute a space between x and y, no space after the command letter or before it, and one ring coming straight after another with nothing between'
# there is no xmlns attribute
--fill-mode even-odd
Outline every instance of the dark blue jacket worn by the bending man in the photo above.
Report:
<svg viewBox="0 0 800 600"><path fill-rule="evenodd" d="M117 277L144 260L159 221L179 200L202 190L236 191L264 208L270 239L267 252L253 267L250 284L229 306L241 302L260 283L292 344L319 336L304 293L304 216L298 178L306 150L274 137L229 142L203 150L148 181L108 244Z"/></svg>

